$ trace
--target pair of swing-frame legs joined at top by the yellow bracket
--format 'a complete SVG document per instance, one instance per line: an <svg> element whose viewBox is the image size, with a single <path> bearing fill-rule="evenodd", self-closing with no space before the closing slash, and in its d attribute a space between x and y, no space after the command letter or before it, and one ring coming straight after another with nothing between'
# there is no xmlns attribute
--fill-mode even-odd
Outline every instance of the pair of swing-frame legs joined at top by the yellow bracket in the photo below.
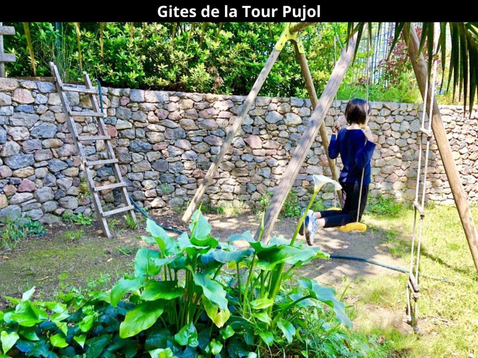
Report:
<svg viewBox="0 0 478 358"><path fill-rule="evenodd" d="M257 97L259 91L261 90L262 84L264 84L264 82L267 78L267 75L271 71L272 66L275 63L275 61L277 60L277 57L279 56L279 53L281 53L281 50L284 47L285 43L288 40L293 41L295 43L296 51L298 51L298 53L304 53L304 50L302 48L302 43L299 42L299 46L297 46L297 43L296 43L298 32L300 30L303 30L307 26L310 26L310 25L314 24L314 23L315 22L298 22L298 23L295 23L295 24L291 24L289 22L289 23L286 24L286 27L285 27L284 31L282 32L282 34L281 34L279 40L277 41L276 45L274 46L274 49L272 50L272 53L269 56L269 59L265 63L265 65L262 68L261 73L259 74L256 82L252 86L252 89L250 90L249 95L247 96L246 100L242 104L239 115L235 119L233 125L229 128L228 133L226 135L226 138L224 139L221 147L219 148L219 152L217 153L216 157L213 160L213 163L211 164L211 166L207 170L205 178L201 181L201 184L199 185L199 188L197 189L193 200L191 200L191 202L189 203L183 217L181 218L181 224L185 224L187 221L189 221L193 212L196 210L202 196L204 195L207 187L212 183L212 180L213 180L213 178L216 174L217 168L219 167L219 164L221 164L222 160L224 159L224 156L226 155L226 153L228 151L228 148L232 144L232 140L234 139L234 137L236 137L236 134L239 131L239 127L241 126L244 118L249 113L251 105L254 103L255 98ZM304 59L305 59L305 57L304 57ZM301 57L299 57L299 61L301 61ZM306 62L307 62L307 60L305 60L305 65L306 65ZM302 66L303 66L303 63L301 63L301 67ZM307 72L308 72L308 66L306 65L306 67L307 67ZM304 73L304 69L302 69L302 70L303 70L303 73ZM306 86L307 86L307 89L309 90L309 96L311 97L312 106L315 107L314 98L315 98L315 103L316 103L317 95L315 95L314 85L312 84L312 77L310 76L310 73L309 73L308 77L307 77L306 73L304 73L304 77L306 77L305 78ZM308 83L309 77L310 77L309 83L312 84L312 86L310 86L310 84ZM313 92L314 95L311 94L312 93L311 91ZM331 160L330 158L328 158L328 152L327 152L328 138L326 136L325 126L321 126L320 133L321 133L321 136L322 136L323 144L326 147L326 154L327 154L327 159L328 159L328 162L329 162L330 169L332 171L332 177L337 180L338 174L337 174L337 169L336 169L336 166L335 166L335 162L333 160ZM340 193L339 193L339 195L340 195Z"/></svg>

